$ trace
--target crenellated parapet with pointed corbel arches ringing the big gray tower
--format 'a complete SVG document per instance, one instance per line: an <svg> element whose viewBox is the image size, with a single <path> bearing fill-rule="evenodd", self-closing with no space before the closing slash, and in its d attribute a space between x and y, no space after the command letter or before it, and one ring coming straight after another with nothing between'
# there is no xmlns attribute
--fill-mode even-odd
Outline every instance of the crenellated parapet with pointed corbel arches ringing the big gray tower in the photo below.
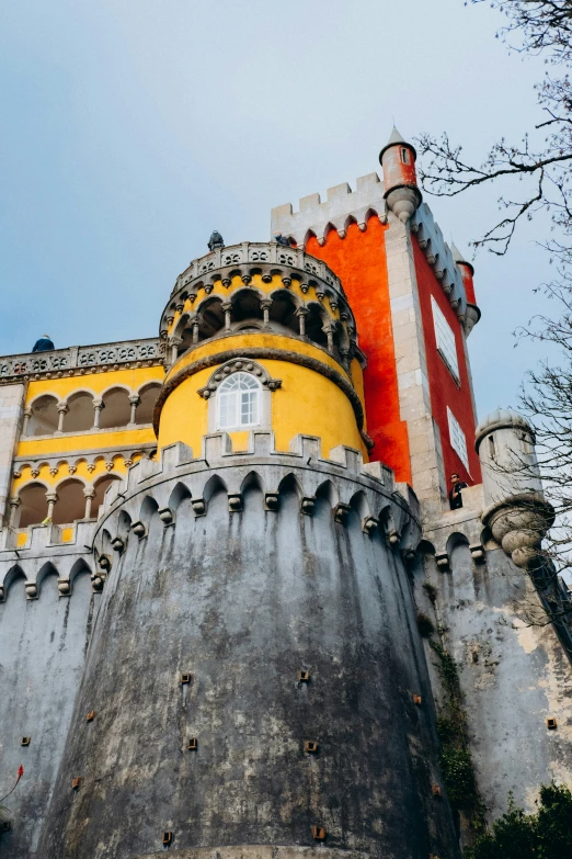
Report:
<svg viewBox="0 0 572 859"><path fill-rule="evenodd" d="M251 431L247 451L233 451L227 433L204 438L202 455L185 444L164 448L158 462L142 461L122 484L112 485L95 532L95 554L104 566L127 539L144 538L149 518L159 512L165 527L176 525L178 507L190 499L193 516L208 515L209 499L224 487L229 513L240 513L243 494L254 483L264 510L281 509L284 491L295 487L299 511L311 517L317 498L328 500L331 516L345 525L356 512L364 533L380 533L392 549L410 553L419 541L417 504L411 488L394 484L392 472L380 463L364 463L362 454L340 445L321 456L321 440L298 436L289 452L277 451L273 433Z"/></svg>

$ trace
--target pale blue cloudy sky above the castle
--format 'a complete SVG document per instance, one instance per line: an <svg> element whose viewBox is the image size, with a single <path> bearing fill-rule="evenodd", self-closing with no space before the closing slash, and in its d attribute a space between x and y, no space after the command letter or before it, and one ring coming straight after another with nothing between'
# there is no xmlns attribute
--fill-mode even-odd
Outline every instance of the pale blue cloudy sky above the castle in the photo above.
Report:
<svg viewBox="0 0 572 859"><path fill-rule="evenodd" d="M464 0L0 0L0 354L157 336L213 229L270 238L273 206L380 170L393 122L478 161L518 139L545 69L501 24ZM499 195L425 199L468 250ZM544 357L513 331L547 309L546 229L474 260L481 417Z"/></svg>

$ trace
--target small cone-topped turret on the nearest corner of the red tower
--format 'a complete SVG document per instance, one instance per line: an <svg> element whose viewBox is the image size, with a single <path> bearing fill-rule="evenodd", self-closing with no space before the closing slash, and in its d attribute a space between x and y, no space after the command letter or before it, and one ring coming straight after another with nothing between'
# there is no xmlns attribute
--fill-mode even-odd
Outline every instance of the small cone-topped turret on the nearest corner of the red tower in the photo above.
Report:
<svg viewBox="0 0 572 859"><path fill-rule="evenodd" d="M379 163L384 168L385 199L388 208L403 224L420 207L423 200L417 188L416 157L415 148L405 143L393 126L389 140L379 152Z"/></svg>

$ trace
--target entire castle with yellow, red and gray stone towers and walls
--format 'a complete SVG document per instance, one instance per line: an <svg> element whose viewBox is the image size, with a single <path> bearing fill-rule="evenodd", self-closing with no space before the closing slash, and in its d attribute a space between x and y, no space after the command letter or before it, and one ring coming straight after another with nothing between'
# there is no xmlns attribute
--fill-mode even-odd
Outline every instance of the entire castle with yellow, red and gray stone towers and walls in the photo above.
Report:
<svg viewBox="0 0 572 859"><path fill-rule="evenodd" d="M214 242L157 338L0 359L2 857L458 859L457 693L490 821L572 782L534 431L477 418L415 157Z"/></svg>

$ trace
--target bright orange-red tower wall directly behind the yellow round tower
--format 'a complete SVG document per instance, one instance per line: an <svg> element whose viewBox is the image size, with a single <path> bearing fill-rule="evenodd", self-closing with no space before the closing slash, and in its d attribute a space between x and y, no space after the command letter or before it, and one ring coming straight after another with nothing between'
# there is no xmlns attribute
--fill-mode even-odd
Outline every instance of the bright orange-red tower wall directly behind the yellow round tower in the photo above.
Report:
<svg viewBox="0 0 572 859"><path fill-rule="evenodd" d="M306 251L323 260L341 278L354 312L359 347L367 357L364 374L367 431L375 441L369 457L393 468L397 481L411 484L408 429L399 417L386 229L373 216L365 233L352 224L344 239L331 230L325 245L320 246L311 238Z"/></svg>

